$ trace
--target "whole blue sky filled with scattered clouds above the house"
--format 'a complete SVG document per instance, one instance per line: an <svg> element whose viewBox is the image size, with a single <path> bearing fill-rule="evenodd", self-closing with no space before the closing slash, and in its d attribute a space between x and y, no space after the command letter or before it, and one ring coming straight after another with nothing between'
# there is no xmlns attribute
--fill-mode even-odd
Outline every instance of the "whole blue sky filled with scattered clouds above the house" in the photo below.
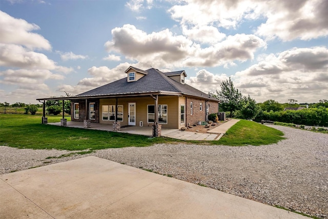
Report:
<svg viewBox="0 0 328 219"><path fill-rule="evenodd" d="M0 102L76 95L133 66L258 103L328 99L328 0L0 0Z"/></svg>

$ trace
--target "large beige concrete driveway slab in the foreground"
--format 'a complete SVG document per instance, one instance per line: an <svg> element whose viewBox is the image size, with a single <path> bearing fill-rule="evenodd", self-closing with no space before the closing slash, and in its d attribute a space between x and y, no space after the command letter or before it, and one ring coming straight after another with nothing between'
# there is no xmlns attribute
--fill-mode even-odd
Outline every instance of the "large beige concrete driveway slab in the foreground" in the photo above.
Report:
<svg viewBox="0 0 328 219"><path fill-rule="evenodd" d="M0 175L1 218L308 218L88 156Z"/></svg>

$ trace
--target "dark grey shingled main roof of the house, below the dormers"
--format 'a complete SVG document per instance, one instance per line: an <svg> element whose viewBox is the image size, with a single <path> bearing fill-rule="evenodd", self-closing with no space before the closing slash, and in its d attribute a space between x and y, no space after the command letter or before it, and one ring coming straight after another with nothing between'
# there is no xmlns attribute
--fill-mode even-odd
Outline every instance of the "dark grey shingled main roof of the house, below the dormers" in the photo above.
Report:
<svg viewBox="0 0 328 219"><path fill-rule="evenodd" d="M76 96L119 95L122 93L137 94L167 91L175 92L177 94L197 96L201 98L210 98L214 101L218 101L216 98L209 97L209 94L197 90L192 86L187 84L183 85L174 81L172 78L168 77L166 73L163 73L157 69L151 68L146 70L146 72L148 74L141 77L136 82L128 82L127 78L125 77L107 85L78 94ZM182 73L183 71L180 72Z"/></svg>

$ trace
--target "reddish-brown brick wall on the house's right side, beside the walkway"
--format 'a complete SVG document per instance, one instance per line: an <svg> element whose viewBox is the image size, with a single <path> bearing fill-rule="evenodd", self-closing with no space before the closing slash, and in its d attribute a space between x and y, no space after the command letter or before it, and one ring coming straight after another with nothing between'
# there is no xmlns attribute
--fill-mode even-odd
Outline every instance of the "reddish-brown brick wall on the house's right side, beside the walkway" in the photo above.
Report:
<svg viewBox="0 0 328 219"><path fill-rule="evenodd" d="M191 115L190 103L193 102L193 114ZM202 103L202 111L200 111L200 103ZM218 112L218 104L215 101L205 102L203 99L196 99L187 97L187 106L186 106L186 121L187 125L190 126L197 124L198 121L206 121L206 104L209 105L209 114Z"/></svg>

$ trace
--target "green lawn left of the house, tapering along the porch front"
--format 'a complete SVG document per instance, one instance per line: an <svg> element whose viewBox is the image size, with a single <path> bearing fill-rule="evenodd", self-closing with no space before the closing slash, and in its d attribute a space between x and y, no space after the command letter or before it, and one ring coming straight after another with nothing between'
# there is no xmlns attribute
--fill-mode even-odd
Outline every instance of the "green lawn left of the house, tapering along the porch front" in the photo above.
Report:
<svg viewBox="0 0 328 219"><path fill-rule="evenodd" d="M48 123L60 122L61 116L49 116ZM70 121L70 116L66 117ZM145 147L156 143L177 142L171 138L88 130L40 124L42 116L0 114L0 145L16 148L99 150L105 148Z"/></svg>

